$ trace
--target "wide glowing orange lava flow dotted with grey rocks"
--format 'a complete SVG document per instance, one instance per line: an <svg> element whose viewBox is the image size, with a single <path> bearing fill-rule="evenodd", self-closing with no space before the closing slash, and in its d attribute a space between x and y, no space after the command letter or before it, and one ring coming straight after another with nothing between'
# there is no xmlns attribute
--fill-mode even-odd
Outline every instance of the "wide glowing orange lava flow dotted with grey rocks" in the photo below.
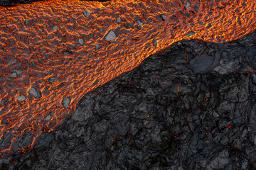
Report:
<svg viewBox="0 0 256 170"><path fill-rule="evenodd" d="M255 0L37 1L0 7L1 155L26 152L88 91L182 39L256 29ZM30 140L24 141L24 135Z"/></svg>

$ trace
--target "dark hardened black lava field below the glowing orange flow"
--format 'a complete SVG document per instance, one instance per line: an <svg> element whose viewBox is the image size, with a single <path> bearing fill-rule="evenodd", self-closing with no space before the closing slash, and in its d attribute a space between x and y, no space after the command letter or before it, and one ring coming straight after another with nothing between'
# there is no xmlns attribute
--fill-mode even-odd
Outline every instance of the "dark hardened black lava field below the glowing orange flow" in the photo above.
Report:
<svg viewBox="0 0 256 170"><path fill-rule="evenodd" d="M177 42L85 94L0 169L256 169L255 49L256 33Z"/></svg>

